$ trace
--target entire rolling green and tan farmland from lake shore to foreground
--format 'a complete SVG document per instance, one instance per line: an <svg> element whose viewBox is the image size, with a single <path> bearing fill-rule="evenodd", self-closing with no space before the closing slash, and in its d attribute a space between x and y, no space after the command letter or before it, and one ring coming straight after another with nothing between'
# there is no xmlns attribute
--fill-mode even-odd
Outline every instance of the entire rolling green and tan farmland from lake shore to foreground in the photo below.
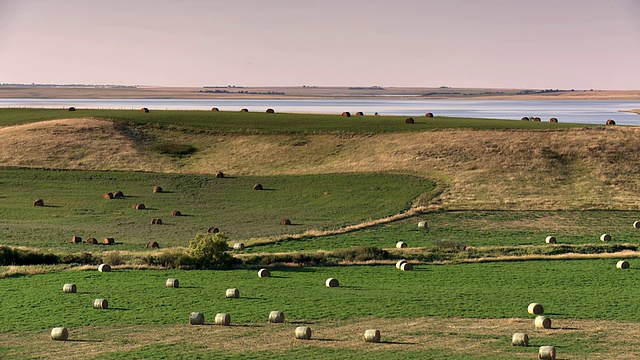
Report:
<svg viewBox="0 0 640 360"><path fill-rule="evenodd" d="M46 122L65 118L77 122ZM527 359L541 345L562 359L640 357L636 135L438 117L408 125L382 116L0 109L0 139L10 144L0 151L0 246L125 264L111 273L0 267L0 357ZM218 170L228 176L215 178ZM255 183L265 190L251 190ZM153 193L157 185L165 192ZM102 198L116 190L125 198ZM35 198L45 206L33 207ZM257 262L127 265L131 253L186 251L211 226L246 244L235 256ZM602 243L602 233L613 240ZM73 235L116 245L72 244ZM544 244L548 235L558 244ZM394 249L400 240L409 248ZM145 249L148 241L161 249ZM335 254L365 247L387 252L372 262ZM592 259L566 260L574 251ZM330 253L331 266L296 262ZM548 257L557 254L565 260ZM405 255L414 271L393 266ZM623 258L630 269L615 268ZM257 264L273 277L258 278ZM164 287L168 277L181 287ZM341 286L325 287L328 277ZM70 282L77 294L62 292ZM225 299L233 287L240 298ZM92 309L95 298L110 308ZM545 306L552 329L534 329L531 302ZM285 324L268 324L271 310ZM207 325L188 325L191 311ZM218 312L232 326L213 325ZM300 325L312 327L311 341L293 339ZM54 326L71 341L51 341ZM382 331L380 344L362 341L370 328ZM519 331L528 348L510 345Z"/></svg>

